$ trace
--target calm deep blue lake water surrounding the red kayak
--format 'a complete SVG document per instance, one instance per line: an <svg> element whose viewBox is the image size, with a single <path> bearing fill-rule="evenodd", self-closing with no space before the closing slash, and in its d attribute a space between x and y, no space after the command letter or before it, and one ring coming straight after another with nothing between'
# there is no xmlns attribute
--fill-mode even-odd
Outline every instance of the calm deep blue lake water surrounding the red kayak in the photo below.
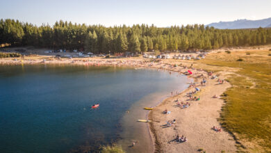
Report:
<svg viewBox="0 0 271 153"><path fill-rule="evenodd" d="M120 138L134 102L178 79L120 67L0 66L0 152L97 150Z"/></svg>

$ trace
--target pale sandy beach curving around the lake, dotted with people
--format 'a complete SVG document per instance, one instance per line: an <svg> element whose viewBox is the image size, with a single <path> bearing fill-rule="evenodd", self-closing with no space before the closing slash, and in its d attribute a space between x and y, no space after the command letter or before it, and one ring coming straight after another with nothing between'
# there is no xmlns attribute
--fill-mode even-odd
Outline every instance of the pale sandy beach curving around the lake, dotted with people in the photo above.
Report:
<svg viewBox="0 0 271 153"><path fill-rule="evenodd" d="M44 60L45 59L45 60ZM22 65L22 64L71 64L71 65L89 65L89 66L130 66L130 67L145 67L168 70L173 72L187 72L192 70L191 78L195 78L199 82L202 78L196 78L200 74L207 77L207 73L203 70L195 70L189 68L190 63L186 63L183 67L174 67L173 64L164 61L154 62L145 58L72 58L72 59L55 59L48 56L42 58L0 58L0 65ZM224 79L222 77L222 79ZM200 84L200 83L199 83ZM206 86L199 86L201 92L199 101L186 101L186 92L195 90L188 88L178 95L174 95L165 99L161 104L158 104L153 111L149 112L149 119L159 122L149 123L152 140L155 145L155 152L197 152L199 148L206 152L235 152L236 147L233 138L225 131L215 132L211 127L219 126L217 118L220 117L220 109L222 108L222 99L213 99L213 95L221 95L222 92L230 87L229 83L220 85L217 84L217 79L207 79ZM183 102L190 102L188 108L175 107L177 98ZM165 115L161 112L167 109L172 113ZM176 120L176 124L172 127L161 128L161 125L166 124L167 120ZM170 140L176 137L176 134L184 135L188 138L185 143L176 143Z"/></svg>

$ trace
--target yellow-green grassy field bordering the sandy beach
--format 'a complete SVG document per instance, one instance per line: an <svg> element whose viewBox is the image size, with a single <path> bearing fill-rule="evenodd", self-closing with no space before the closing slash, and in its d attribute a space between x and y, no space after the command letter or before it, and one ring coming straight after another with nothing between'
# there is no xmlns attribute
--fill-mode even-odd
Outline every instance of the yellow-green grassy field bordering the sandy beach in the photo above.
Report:
<svg viewBox="0 0 271 153"><path fill-rule="evenodd" d="M202 63L211 70L233 72L225 92L222 126L232 132L245 152L271 152L271 51L210 54ZM238 60L242 59L242 60Z"/></svg>

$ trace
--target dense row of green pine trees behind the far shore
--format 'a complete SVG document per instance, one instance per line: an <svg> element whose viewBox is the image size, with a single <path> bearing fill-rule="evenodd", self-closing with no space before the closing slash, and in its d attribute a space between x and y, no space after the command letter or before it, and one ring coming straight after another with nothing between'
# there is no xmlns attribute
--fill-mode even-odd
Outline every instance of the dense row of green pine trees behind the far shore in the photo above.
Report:
<svg viewBox="0 0 271 153"><path fill-rule="evenodd" d="M95 53L153 49L186 51L271 44L271 29L222 30L198 24L169 28L145 24L105 27L72 24L62 20L54 26L34 26L14 19L1 19L0 45L6 43L51 49L80 49Z"/></svg>

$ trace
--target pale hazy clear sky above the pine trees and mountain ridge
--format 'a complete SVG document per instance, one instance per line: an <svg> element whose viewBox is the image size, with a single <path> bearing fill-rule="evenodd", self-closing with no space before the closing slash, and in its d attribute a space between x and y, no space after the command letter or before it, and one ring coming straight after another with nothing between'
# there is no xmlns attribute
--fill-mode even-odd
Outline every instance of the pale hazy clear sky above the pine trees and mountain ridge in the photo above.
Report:
<svg viewBox="0 0 271 153"><path fill-rule="evenodd" d="M0 0L0 18L38 26L60 19L104 26L172 26L268 17L271 0Z"/></svg>

